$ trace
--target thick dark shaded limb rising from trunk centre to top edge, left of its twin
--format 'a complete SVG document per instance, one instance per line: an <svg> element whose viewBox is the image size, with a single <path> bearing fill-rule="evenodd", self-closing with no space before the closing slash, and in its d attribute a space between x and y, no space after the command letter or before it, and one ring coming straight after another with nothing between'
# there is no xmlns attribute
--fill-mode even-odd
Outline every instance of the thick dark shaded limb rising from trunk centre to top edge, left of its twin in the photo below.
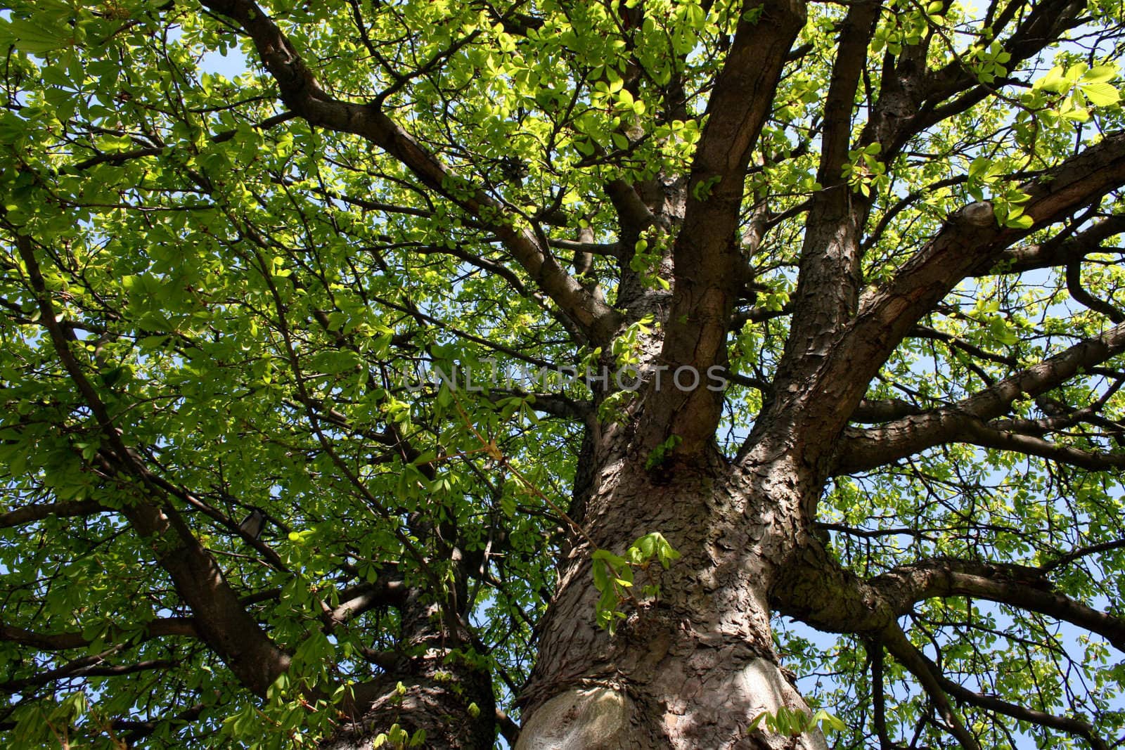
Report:
<svg viewBox="0 0 1125 750"><path fill-rule="evenodd" d="M756 4L747 2L742 9ZM746 168L804 16L800 0L766 2L757 21L739 22L716 80L673 249L675 287L660 354L673 368L702 373L727 364L728 322L746 281L737 238ZM655 445L675 435L684 457L709 448L721 394L696 388L659 396L646 414L644 440Z"/></svg>

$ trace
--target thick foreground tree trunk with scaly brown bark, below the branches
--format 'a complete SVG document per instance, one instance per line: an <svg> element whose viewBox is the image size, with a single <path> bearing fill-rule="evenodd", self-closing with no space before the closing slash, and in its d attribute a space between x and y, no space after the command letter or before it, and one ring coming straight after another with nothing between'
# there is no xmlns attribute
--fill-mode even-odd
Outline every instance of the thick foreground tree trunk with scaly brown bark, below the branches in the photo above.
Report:
<svg viewBox="0 0 1125 750"><path fill-rule="evenodd" d="M588 544L576 544L523 696L518 749L825 748L819 733L747 732L763 712L807 711L770 630L770 587L798 534L795 472L778 461L742 472L717 457L663 471L642 463L598 462L582 524L615 553L660 532L683 557L638 576L639 606L623 605L611 636L595 624ZM658 598L640 595L646 582L659 585Z"/></svg>

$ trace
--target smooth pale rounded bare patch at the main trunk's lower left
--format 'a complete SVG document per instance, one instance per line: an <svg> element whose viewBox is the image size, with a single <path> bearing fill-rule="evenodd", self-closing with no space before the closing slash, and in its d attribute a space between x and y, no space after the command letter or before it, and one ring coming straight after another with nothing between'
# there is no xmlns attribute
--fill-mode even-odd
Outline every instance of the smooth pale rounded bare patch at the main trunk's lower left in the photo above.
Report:
<svg viewBox="0 0 1125 750"><path fill-rule="evenodd" d="M632 701L596 687L560 693L544 703L520 732L515 750L613 750L629 747Z"/></svg>

